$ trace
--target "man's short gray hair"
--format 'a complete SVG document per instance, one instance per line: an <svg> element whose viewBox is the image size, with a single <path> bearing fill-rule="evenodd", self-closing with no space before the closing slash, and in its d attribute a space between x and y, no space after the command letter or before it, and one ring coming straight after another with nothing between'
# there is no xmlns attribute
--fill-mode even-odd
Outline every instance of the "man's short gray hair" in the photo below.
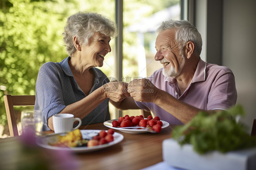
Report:
<svg viewBox="0 0 256 170"><path fill-rule="evenodd" d="M175 39L179 44L179 50L184 50L188 41L195 44L195 54L200 55L202 50L202 37L194 25L187 20L167 20L162 22L156 32L162 32L168 29L176 29Z"/></svg>

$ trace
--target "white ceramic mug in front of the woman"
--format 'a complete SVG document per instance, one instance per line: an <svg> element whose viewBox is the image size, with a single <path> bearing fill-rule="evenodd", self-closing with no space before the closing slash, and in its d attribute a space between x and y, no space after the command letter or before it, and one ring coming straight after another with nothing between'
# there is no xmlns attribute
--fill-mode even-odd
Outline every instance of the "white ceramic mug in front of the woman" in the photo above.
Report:
<svg viewBox="0 0 256 170"><path fill-rule="evenodd" d="M72 131L79 128L82 125L82 120L80 118L74 118L74 115L69 113L60 113L57 115L53 115L52 121L55 133ZM75 128L73 128L75 121L79 121L79 124Z"/></svg>

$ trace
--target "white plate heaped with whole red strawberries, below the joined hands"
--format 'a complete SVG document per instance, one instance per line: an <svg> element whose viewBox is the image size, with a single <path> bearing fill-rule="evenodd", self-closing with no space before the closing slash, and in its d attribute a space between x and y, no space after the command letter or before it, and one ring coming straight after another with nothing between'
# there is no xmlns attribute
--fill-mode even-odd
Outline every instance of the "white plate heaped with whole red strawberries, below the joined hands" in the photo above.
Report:
<svg viewBox="0 0 256 170"><path fill-rule="evenodd" d="M119 117L119 119L105 121L103 124L108 128L112 128L126 133L148 132L148 130L142 129L141 127L152 129L155 132L159 133L162 129L169 126L168 122L160 120L158 116L155 116L153 118L151 115L148 115L147 118L144 118L143 115L125 115ZM131 129L123 129L129 127L131 127Z"/></svg>

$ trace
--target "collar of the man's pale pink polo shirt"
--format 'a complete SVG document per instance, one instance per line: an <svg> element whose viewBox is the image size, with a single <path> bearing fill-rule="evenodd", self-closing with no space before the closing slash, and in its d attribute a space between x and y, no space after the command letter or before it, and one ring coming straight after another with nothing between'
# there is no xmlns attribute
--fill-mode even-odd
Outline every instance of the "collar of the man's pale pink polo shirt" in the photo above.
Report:
<svg viewBox="0 0 256 170"><path fill-rule="evenodd" d="M200 58L197 66L196 66L196 70L195 70L195 74L194 74L192 83L195 83L198 81L205 81L206 65L207 65L207 62L203 61ZM174 82L176 82L176 79L173 79L171 77L165 77L164 81L167 81L169 83L174 83Z"/></svg>

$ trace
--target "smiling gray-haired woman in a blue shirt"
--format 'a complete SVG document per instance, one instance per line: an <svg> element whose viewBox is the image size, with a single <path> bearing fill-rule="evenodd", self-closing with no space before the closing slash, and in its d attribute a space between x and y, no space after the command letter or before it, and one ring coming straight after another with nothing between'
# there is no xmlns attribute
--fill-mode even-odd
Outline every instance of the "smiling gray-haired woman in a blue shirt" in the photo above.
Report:
<svg viewBox="0 0 256 170"><path fill-rule="evenodd" d="M119 102L129 95L127 84L109 82L95 68L111 52L115 23L97 13L79 12L67 19L62 35L69 56L43 64L36 80L35 109L42 110L42 130L53 130L52 116L61 113L72 113L82 125L109 120L109 99Z"/></svg>

